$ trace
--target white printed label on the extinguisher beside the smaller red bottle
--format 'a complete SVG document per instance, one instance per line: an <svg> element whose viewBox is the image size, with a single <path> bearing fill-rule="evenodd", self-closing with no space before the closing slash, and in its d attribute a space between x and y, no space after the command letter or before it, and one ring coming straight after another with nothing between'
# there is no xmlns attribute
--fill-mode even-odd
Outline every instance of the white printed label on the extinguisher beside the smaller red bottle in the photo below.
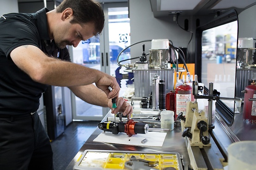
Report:
<svg viewBox="0 0 256 170"><path fill-rule="evenodd" d="M184 95L184 94L176 94L176 114L179 114L180 112L183 113L183 115L186 114L186 107L187 102L191 101L191 94Z"/></svg>

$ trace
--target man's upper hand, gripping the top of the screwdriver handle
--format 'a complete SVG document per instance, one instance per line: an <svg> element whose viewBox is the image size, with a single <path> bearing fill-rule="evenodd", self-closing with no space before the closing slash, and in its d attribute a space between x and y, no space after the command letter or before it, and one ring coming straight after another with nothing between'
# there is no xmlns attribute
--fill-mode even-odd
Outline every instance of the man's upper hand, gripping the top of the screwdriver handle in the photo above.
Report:
<svg viewBox="0 0 256 170"><path fill-rule="evenodd" d="M95 85L107 94L108 99L119 96L119 84L117 83L116 78L111 75L102 74L101 79L99 79L98 82L95 82ZM109 87L112 88L111 91L109 90Z"/></svg>

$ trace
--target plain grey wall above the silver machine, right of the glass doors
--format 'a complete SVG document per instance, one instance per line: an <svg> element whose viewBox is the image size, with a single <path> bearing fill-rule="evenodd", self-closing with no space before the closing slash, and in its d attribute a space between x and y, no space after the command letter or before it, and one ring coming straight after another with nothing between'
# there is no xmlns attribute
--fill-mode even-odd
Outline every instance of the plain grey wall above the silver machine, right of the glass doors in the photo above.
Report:
<svg viewBox="0 0 256 170"><path fill-rule="evenodd" d="M175 46L187 47L191 33L179 28L176 21L173 21L173 16L155 18L149 0L130 0L129 15L131 44L142 40L169 39L173 41ZM182 16L179 17L179 23L182 27L184 27L184 22L182 22L184 19ZM190 18L188 19L190 20ZM145 44L145 53L149 52L151 42L140 43L131 48L131 58L142 55L143 44ZM132 62L135 61L137 60Z"/></svg>

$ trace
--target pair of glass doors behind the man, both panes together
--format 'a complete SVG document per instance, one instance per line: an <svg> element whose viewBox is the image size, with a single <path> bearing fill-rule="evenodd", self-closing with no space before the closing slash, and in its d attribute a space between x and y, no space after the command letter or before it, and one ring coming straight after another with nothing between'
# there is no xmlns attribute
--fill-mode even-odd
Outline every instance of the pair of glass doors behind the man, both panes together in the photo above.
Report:
<svg viewBox="0 0 256 170"><path fill-rule="evenodd" d="M81 41L76 48L71 47L69 51L72 62L115 75L115 70L118 68L117 56L128 44L130 45L130 19L127 5L127 3L102 5L105 13L105 27L102 34L100 37ZM130 57L130 51L123 55ZM110 110L84 102L73 93L71 102L74 120L102 120Z"/></svg>

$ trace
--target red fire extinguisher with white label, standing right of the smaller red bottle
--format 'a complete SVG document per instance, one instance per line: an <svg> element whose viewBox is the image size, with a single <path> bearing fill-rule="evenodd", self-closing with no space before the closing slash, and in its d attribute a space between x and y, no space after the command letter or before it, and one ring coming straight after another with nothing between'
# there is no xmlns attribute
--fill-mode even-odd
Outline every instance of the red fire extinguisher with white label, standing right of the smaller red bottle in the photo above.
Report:
<svg viewBox="0 0 256 170"><path fill-rule="evenodd" d="M175 98L176 98L176 114L175 118L179 115L180 112L185 116L187 103L190 101L195 101L194 96L192 95L192 87L191 85L187 85L187 83L183 83L176 87L175 90Z"/></svg>

